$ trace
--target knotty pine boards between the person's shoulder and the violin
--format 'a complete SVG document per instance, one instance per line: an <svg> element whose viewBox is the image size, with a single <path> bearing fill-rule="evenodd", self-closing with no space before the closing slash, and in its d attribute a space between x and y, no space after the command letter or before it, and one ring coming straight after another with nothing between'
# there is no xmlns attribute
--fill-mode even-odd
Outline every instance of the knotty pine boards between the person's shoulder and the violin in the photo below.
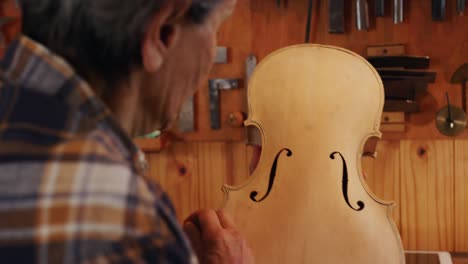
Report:
<svg viewBox="0 0 468 264"><path fill-rule="evenodd" d="M249 150L242 143L176 143L147 155L150 176L166 190L182 221L202 208L219 208L224 183L248 177Z"/></svg>

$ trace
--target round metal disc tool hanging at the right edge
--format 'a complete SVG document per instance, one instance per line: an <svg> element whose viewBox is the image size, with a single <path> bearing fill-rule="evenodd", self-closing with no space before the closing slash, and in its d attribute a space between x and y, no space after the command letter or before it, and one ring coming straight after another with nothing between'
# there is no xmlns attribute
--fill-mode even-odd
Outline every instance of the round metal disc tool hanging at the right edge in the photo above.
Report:
<svg viewBox="0 0 468 264"><path fill-rule="evenodd" d="M446 94L447 106L436 115L436 127L443 135L454 137L466 128L466 114L462 109L450 104L448 93Z"/></svg>

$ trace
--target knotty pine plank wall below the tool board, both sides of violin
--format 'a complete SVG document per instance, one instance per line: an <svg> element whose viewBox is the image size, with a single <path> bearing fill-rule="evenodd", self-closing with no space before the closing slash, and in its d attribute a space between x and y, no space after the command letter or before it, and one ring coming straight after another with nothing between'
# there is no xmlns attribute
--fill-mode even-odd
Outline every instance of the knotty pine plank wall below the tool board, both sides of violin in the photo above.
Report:
<svg viewBox="0 0 468 264"><path fill-rule="evenodd" d="M370 189L396 202L394 220L406 249L468 251L468 140L386 140L363 158ZM172 197L179 220L219 208L224 183L249 175L243 143L177 143L148 155L151 175Z"/></svg>

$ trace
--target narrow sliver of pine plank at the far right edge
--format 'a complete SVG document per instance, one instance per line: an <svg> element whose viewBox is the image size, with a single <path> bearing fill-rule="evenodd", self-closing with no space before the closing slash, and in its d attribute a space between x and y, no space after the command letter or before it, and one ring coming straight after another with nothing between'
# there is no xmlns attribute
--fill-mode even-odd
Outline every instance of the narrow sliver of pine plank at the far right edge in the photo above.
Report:
<svg viewBox="0 0 468 264"><path fill-rule="evenodd" d="M455 251L468 252L468 141L455 140Z"/></svg>

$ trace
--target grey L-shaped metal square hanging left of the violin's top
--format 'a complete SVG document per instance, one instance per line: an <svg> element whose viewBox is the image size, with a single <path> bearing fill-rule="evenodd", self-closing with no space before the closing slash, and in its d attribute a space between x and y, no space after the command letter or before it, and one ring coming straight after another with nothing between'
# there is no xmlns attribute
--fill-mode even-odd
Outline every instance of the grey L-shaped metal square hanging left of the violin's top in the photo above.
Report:
<svg viewBox="0 0 468 264"><path fill-rule="evenodd" d="M210 93L210 124L211 128L221 129L220 91L239 88L238 79L210 79L208 81Z"/></svg>

